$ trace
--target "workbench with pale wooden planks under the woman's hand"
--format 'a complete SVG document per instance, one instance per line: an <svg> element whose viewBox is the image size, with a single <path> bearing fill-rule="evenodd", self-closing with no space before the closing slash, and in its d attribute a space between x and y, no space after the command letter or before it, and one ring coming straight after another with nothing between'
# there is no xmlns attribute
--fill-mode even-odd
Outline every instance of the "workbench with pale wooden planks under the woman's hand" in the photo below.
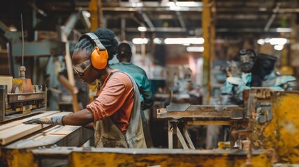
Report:
<svg viewBox="0 0 299 167"><path fill-rule="evenodd" d="M0 166L32 167L32 149L56 146L81 146L94 132L81 126L24 125L23 122L43 116L68 115L72 112L44 111L0 126Z"/></svg>

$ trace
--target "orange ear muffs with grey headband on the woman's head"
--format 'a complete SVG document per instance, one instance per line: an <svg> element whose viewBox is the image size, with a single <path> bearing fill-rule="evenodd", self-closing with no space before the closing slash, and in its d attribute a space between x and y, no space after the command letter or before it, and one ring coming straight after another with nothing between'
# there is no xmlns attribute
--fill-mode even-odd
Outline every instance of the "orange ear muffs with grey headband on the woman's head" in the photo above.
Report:
<svg viewBox="0 0 299 167"><path fill-rule="evenodd" d="M85 33L81 35L79 40L81 40L82 38L87 38L94 44L94 49L92 50L92 55L90 56L92 66L94 66L98 70L104 69L108 62L107 49L94 33Z"/></svg>

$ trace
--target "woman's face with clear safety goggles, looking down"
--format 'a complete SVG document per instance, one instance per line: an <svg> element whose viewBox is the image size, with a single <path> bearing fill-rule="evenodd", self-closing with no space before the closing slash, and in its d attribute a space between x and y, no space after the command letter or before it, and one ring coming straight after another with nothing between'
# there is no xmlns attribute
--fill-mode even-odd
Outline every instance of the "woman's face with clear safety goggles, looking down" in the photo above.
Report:
<svg viewBox="0 0 299 167"><path fill-rule="evenodd" d="M99 70L92 67L92 62L90 62L90 51L75 51L72 56L72 63L73 69L77 72L82 82L92 84L100 77Z"/></svg>

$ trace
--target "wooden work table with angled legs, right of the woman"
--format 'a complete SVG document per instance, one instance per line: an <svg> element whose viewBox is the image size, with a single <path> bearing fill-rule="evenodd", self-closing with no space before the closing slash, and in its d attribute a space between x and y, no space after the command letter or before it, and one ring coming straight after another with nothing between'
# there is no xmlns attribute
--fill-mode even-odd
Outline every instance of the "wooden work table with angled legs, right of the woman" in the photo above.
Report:
<svg viewBox="0 0 299 167"><path fill-rule="evenodd" d="M195 149L187 127L189 125L231 125L238 128L244 119L244 109L240 106L212 105L177 105L168 109L157 109L157 118L168 120L168 148L173 148L173 134L177 134L184 149ZM182 132L177 127L178 122L184 122ZM247 124L247 122L246 122ZM233 145L233 141L231 145Z"/></svg>

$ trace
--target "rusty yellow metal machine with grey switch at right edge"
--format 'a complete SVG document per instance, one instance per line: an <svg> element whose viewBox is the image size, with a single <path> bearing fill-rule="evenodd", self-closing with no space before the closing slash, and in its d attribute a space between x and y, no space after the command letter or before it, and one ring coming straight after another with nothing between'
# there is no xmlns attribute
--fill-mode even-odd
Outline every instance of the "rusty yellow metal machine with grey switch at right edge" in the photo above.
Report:
<svg viewBox="0 0 299 167"><path fill-rule="evenodd" d="M299 91L251 88L244 94L251 147L275 150L279 163L299 164Z"/></svg>

